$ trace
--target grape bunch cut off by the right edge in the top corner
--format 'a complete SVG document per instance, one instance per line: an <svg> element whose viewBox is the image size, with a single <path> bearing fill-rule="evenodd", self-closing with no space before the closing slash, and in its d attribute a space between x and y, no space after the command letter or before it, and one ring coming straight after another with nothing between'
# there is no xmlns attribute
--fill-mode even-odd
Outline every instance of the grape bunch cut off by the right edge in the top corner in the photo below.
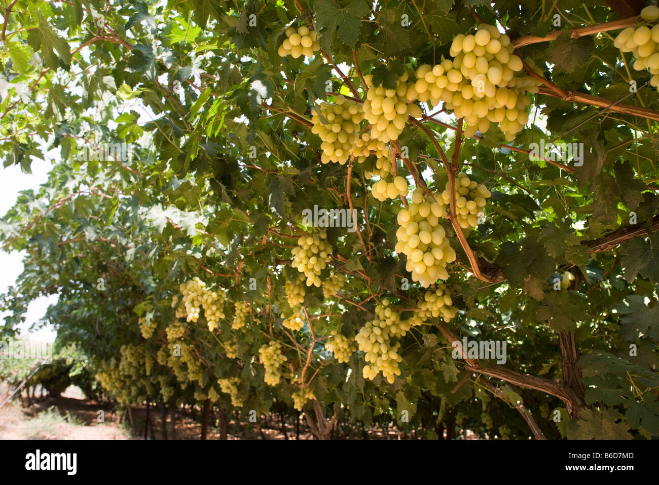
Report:
<svg viewBox="0 0 659 485"><path fill-rule="evenodd" d="M623 52L633 52L634 69L648 69L652 74L650 84L659 88L659 23L648 25L659 19L659 7L648 5L641 11L641 17L645 20L643 25L625 28L617 35L614 46Z"/></svg>

